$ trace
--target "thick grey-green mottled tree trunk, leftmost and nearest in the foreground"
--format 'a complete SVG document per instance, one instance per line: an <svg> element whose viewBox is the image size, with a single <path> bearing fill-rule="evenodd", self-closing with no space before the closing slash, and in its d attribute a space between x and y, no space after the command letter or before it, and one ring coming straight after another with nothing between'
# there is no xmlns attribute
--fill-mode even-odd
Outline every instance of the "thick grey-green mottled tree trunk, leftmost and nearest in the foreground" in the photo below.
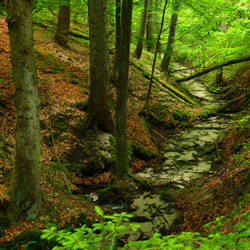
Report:
<svg viewBox="0 0 250 250"><path fill-rule="evenodd" d="M35 219L41 206L38 81L35 65L32 0L8 0L11 64L17 108L16 158L10 187L14 219Z"/></svg>

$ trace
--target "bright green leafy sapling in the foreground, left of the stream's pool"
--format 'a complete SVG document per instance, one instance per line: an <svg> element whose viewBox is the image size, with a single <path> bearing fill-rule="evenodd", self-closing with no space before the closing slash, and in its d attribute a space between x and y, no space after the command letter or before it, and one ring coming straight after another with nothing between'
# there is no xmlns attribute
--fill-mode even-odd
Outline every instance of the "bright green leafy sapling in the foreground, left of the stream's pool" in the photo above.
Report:
<svg viewBox="0 0 250 250"><path fill-rule="evenodd" d="M66 230L57 230L56 227L43 230L42 239L56 240L60 246L56 249L117 249L116 243L118 236L122 235L125 230L131 228L136 230L137 225L124 226L132 215L125 212L121 214L104 215L103 210L99 207L95 208L96 213L101 217L101 221L94 223L92 227L83 225L81 228L75 229L73 232Z"/></svg>

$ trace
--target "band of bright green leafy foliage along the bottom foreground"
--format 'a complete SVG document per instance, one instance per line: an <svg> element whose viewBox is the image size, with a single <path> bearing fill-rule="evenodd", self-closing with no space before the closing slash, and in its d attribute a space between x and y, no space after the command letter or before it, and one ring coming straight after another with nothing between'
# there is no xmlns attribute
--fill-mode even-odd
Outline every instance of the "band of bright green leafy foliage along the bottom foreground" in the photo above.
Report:
<svg viewBox="0 0 250 250"><path fill-rule="evenodd" d="M162 237L156 233L150 239L144 241L131 241L124 247L117 246L117 239L127 230L138 230L139 226L130 224L125 226L132 215L127 213L104 215L103 210L95 208L96 213L101 217L101 221L93 224L91 228L86 225L75 229L73 232L57 230L56 227L43 230L42 239L55 240L60 246L56 249L249 249L250 247L250 211L238 218L238 222L232 227L230 233L223 233L228 221L225 217L217 218L206 224L204 227L210 228L208 235L199 233L183 232L179 235L168 235ZM232 226L232 225L231 225Z"/></svg>

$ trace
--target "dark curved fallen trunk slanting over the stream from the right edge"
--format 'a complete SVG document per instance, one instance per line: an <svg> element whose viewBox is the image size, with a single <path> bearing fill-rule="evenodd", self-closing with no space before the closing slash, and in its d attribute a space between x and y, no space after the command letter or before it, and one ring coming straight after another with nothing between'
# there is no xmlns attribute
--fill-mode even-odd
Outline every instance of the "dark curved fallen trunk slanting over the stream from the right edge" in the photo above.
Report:
<svg viewBox="0 0 250 250"><path fill-rule="evenodd" d="M194 75L191 75L191 76L187 76L187 77L184 77L184 78L181 78L181 79L176 79L177 82L186 82L186 81L189 81L189 80L192 80L196 77L199 77L199 76L202 76L202 75L205 75L213 70L216 70L216 69L219 69L219 68L222 68L222 67L226 67L226 66L229 66L229 65L232 65L232 64L236 64L236 63L241 63L241 62L247 62L247 61L250 61L250 56L246 56L246 57L242 57L242 58L238 58L238 59L232 59L232 60L229 60L227 62L224 62L224 63L220 63L218 65L215 65L215 66L211 66L201 72L197 72L195 73Z"/></svg>

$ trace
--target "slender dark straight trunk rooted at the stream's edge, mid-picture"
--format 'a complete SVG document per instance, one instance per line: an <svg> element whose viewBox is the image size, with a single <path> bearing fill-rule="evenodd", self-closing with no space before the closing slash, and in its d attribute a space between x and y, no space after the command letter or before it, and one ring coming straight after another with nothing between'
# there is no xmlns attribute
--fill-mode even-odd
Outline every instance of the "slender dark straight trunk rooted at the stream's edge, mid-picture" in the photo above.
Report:
<svg viewBox="0 0 250 250"><path fill-rule="evenodd" d="M133 0L122 1L121 42L116 103L116 176L120 179L129 171L126 134L128 71Z"/></svg>

